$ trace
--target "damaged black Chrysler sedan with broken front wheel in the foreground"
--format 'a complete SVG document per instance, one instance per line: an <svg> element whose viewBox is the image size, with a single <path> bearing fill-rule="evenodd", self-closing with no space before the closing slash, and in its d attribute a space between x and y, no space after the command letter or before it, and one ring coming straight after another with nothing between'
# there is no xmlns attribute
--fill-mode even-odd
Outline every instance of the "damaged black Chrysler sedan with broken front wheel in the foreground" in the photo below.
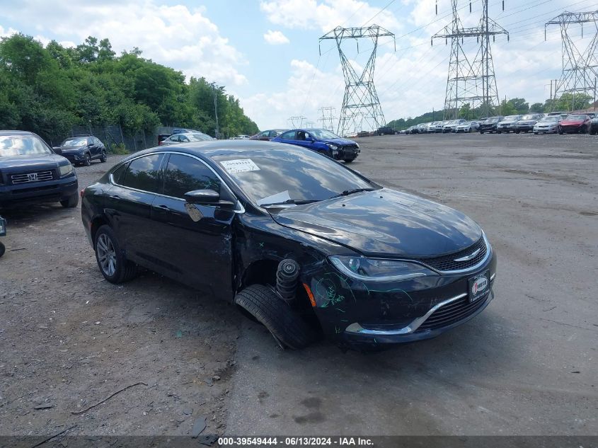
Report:
<svg viewBox="0 0 598 448"><path fill-rule="evenodd" d="M100 272L138 266L233 301L281 346L432 338L493 298L481 227L309 149L224 141L140 151L82 194Z"/></svg>

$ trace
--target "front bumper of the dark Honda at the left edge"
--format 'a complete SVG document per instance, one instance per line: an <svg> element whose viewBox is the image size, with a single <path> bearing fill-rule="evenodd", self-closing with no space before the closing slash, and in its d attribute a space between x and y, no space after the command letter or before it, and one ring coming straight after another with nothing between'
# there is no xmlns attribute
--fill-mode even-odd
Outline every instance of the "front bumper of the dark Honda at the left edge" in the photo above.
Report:
<svg viewBox="0 0 598 448"><path fill-rule="evenodd" d="M79 183L71 175L59 180L0 185L0 205L16 205L30 202L59 202L76 195Z"/></svg>

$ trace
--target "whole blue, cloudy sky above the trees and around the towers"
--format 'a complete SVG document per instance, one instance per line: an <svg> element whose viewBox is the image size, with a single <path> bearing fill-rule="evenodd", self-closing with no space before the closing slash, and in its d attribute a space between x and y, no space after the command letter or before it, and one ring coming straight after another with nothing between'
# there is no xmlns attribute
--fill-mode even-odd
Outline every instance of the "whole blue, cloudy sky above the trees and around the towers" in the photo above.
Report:
<svg viewBox="0 0 598 448"><path fill-rule="evenodd" d="M469 4L471 3L471 13ZM458 0L465 26L476 26L481 0ZM544 24L563 11L597 11L591 0L489 0L489 15L510 32L491 44L500 98L544 103L562 70L560 29ZM437 8L437 13L436 13ZM450 42L430 38L451 21L451 0L0 0L0 37L33 35L44 45L79 45L89 35L113 50L204 76L236 96L260 130L289 127L289 117L319 126L320 108L343 105L345 81L333 40L337 26L379 25L374 85L386 122L442 110ZM586 24L569 33L583 51L597 33ZM357 72L372 41L343 42ZM476 41L464 42L467 51Z"/></svg>

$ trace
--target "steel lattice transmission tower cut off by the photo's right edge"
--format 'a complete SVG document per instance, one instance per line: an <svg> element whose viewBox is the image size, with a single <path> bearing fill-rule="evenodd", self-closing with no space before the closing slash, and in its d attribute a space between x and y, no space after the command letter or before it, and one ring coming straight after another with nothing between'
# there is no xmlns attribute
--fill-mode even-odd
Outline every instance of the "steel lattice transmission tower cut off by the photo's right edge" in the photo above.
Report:
<svg viewBox="0 0 598 448"><path fill-rule="evenodd" d="M581 52L577 45L575 45L575 42L573 42L573 38L569 35L568 31L570 25L580 24L583 38L584 23L592 23L594 37L590 40L585 50ZM577 96L577 108L587 105L588 99L593 99L595 103L596 79L598 77L598 61L596 59L598 11L589 13L568 13L565 11L544 25L544 40L546 40L546 28L548 25L560 25L560 38L563 41L563 73L556 84L554 98L562 97L564 93L568 93L568 96L570 96L568 110L570 111L576 109L575 96ZM555 106L556 101L553 103L553 109Z"/></svg>

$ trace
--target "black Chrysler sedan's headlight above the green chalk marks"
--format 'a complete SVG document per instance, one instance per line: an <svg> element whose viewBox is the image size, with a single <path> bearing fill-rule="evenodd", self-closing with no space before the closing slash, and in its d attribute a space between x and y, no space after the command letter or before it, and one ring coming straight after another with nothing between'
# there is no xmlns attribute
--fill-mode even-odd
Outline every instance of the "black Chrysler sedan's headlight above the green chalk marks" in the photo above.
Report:
<svg viewBox="0 0 598 448"><path fill-rule="evenodd" d="M348 277L356 280L391 282L410 280L436 273L417 263L400 260L379 260L365 257L333 255L331 263Z"/></svg>

